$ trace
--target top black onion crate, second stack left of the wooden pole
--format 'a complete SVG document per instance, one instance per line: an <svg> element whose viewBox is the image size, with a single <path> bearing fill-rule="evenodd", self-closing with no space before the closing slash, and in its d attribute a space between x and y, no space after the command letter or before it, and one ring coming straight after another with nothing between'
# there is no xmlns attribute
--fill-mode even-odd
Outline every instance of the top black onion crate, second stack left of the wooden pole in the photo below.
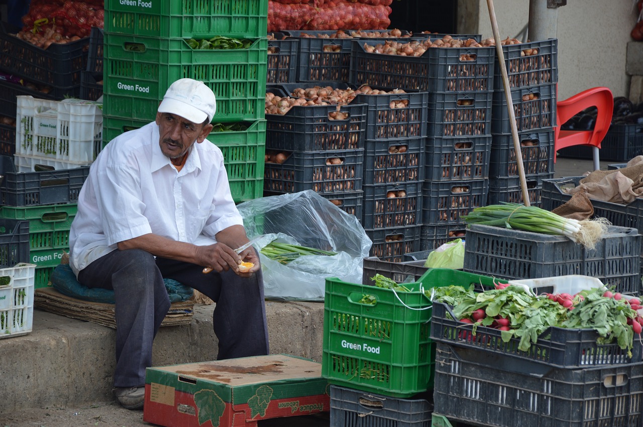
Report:
<svg viewBox="0 0 643 427"><path fill-rule="evenodd" d="M383 89L373 87L373 89ZM428 92L408 91L399 94L358 94L353 102L368 105L366 138L370 140L399 140L426 137L428 122ZM404 108L392 108L392 103L405 103Z"/></svg>

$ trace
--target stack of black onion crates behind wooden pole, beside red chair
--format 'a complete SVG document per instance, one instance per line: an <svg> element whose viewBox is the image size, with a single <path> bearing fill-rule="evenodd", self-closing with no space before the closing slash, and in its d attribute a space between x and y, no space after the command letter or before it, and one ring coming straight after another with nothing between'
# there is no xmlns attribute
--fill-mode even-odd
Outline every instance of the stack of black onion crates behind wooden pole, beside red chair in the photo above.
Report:
<svg viewBox="0 0 643 427"><path fill-rule="evenodd" d="M529 202L539 206L543 179L554 177L557 40L503 46ZM523 203L509 110L496 59L488 204Z"/></svg>

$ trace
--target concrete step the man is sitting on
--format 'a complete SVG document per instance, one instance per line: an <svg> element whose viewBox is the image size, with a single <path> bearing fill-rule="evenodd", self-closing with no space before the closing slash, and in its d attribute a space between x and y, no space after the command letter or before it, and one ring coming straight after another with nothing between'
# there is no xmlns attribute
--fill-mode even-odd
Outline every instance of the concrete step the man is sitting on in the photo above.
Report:
<svg viewBox="0 0 643 427"><path fill-rule="evenodd" d="M215 304L194 306L189 325L164 326L154 340L154 366L215 360ZM266 301L270 352L321 362L323 302ZM33 329L0 339L0 414L43 406L110 401L116 330L46 311Z"/></svg>

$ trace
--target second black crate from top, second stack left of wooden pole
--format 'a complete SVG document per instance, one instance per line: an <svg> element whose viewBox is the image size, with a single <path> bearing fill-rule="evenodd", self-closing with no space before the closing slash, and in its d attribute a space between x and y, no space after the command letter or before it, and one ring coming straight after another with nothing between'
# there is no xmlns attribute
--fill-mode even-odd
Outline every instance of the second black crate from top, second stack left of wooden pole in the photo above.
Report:
<svg viewBox="0 0 643 427"><path fill-rule="evenodd" d="M424 179L426 139L365 141L364 184L400 184Z"/></svg>

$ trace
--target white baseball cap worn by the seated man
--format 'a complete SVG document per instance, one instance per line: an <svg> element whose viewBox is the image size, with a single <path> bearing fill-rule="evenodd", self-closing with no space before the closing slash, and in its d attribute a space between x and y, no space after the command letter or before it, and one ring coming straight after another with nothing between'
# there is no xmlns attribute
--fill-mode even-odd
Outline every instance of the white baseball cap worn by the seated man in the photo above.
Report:
<svg viewBox="0 0 643 427"><path fill-rule="evenodd" d="M217 110L217 100L212 89L203 82L191 78L181 78L168 87L159 112L181 116L192 123L212 121Z"/></svg>

